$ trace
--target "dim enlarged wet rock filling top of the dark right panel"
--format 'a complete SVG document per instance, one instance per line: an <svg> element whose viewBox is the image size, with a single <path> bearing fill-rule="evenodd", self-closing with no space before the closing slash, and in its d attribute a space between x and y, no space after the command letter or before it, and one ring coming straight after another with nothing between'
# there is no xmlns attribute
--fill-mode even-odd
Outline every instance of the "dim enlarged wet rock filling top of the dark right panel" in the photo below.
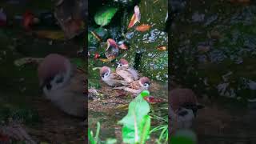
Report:
<svg viewBox="0 0 256 144"><path fill-rule="evenodd" d="M196 85L195 89L206 90L209 95L238 97L241 102L253 97L256 6L239 5L230 9L229 3L206 1L198 10L198 3L189 4L191 7L174 19L175 27L171 29L173 35L180 35L172 37L172 74L180 82L191 87ZM198 26L191 25L191 22L204 23ZM230 71L233 74L224 80L222 75ZM200 78L207 79L207 88Z"/></svg>

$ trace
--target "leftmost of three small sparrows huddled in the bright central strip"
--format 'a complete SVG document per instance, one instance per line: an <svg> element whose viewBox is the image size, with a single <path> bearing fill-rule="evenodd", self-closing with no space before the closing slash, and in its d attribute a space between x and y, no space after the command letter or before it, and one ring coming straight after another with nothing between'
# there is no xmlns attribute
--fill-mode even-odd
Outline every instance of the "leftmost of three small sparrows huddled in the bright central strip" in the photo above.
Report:
<svg viewBox="0 0 256 144"><path fill-rule="evenodd" d="M99 73L102 77L102 81L106 82L109 86L126 86L128 84L118 74L111 72L108 66L103 66Z"/></svg>

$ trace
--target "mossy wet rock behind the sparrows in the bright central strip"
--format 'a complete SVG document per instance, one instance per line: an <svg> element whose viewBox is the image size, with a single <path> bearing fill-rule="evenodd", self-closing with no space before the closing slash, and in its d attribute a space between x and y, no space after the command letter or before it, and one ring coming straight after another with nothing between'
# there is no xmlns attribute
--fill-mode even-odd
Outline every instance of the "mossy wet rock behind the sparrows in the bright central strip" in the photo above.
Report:
<svg viewBox="0 0 256 144"><path fill-rule="evenodd" d="M167 2L158 1L154 3L153 1L142 0L138 6L142 14L140 23L148 24L151 28L145 32L129 29L126 38L130 43L130 49L122 56L125 56L143 76L152 80L167 82L168 50L158 50L158 46L168 48L168 34L164 31L168 10ZM155 7L158 7L158 9L155 9ZM140 56L135 58L138 54Z"/></svg>

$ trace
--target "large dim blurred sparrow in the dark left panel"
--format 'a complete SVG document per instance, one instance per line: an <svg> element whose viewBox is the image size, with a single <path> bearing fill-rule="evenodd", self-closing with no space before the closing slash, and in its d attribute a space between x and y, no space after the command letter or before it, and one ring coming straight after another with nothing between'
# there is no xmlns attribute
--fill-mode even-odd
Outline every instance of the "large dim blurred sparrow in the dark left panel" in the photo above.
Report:
<svg viewBox="0 0 256 144"><path fill-rule="evenodd" d="M86 116L86 77L69 59L49 54L38 66L43 93L60 110L77 117Z"/></svg>

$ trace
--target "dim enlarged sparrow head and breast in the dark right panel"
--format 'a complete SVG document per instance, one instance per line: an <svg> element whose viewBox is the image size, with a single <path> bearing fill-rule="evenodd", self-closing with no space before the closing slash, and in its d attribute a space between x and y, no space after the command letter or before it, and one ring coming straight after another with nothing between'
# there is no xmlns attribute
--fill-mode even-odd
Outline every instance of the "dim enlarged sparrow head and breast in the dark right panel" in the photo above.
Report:
<svg viewBox="0 0 256 144"><path fill-rule="evenodd" d="M182 88L171 90L169 106L171 134L178 129L190 128L197 110L201 108L192 90Z"/></svg>

